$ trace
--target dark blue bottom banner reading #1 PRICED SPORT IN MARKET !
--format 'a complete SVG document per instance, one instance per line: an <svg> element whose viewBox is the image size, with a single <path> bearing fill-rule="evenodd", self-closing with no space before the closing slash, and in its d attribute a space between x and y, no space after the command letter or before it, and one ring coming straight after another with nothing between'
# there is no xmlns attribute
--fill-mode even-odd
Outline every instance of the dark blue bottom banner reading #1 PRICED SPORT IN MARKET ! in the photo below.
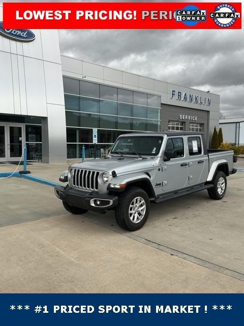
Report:
<svg viewBox="0 0 244 326"><path fill-rule="evenodd" d="M244 294L0 294L2 324L233 324Z"/></svg>

